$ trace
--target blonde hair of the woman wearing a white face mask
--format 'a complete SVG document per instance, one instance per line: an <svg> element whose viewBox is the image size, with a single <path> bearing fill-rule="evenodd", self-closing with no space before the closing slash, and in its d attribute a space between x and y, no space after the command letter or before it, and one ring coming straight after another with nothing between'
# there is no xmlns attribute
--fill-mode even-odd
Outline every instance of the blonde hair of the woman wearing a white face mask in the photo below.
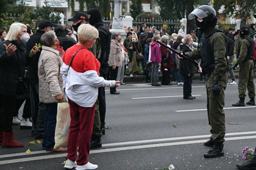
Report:
<svg viewBox="0 0 256 170"><path fill-rule="evenodd" d="M8 41L17 40L17 36L18 36L19 32L21 31L21 27L25 27L27 29L27 26L25 24L18 23L18 22L12 23L11 27L4 39L8 40Z"/></svg>

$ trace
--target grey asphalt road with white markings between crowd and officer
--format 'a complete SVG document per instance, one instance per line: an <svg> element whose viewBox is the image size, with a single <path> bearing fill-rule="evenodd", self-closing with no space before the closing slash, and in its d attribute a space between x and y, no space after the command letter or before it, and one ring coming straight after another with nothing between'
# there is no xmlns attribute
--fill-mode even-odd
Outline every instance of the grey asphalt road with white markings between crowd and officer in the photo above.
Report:
<svg viewBox="0 0 256 170"><path fill-rule="evenodd" d="M183 100L182 86L176 85L128 84L118 88L119 95L106 88L106 126L111 129L102 136L102 148L91 150L89 161L99 170L155 170L171 164L175 170L235 170L243 162L242 149L256 146L256 107L232 107L238 101L238 89L237 85L227 86L225 155L205 159L203 154L210 149L203 146L210 136L206 90L199 81L192 86L195 100ZM13 127L15 139L25 147L0 148L0 170L63 169L66 153L45 152L37 143L29 146L34 140L30 130ZM31 154L25 153L28 148Z"/></svg>

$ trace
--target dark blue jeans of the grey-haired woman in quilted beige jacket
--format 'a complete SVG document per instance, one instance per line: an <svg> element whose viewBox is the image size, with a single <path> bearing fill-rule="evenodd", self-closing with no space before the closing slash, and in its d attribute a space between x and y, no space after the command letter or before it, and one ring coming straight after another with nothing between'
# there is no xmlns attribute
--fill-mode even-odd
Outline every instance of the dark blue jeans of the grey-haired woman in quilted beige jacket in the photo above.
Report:
<svg viewBox="0 0 256 170"><path fill-rule="evenodd" d="M42 147L52 149L55 145L54 135L56 127L57 107L58 103L45 103L47 115L45 119L45 136Z"/></svg>

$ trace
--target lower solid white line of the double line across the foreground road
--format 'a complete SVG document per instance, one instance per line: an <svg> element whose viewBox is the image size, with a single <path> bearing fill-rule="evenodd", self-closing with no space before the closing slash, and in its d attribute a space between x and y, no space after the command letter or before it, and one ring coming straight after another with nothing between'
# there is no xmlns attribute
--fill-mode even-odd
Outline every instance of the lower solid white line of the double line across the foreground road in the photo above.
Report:
<svg viewBox="0 0 256 170"><path fill-rule="evenodd" d="M226 141L244 140L244 139L256 139L256 135L225 138ZM169 142L169 143L160 143L160 144L146 144L146 145L139 145L139 146L107 148L107 149L100 149L100 150L92 150L92 151L90 151L90 154L125 151L125 150L133 150L133 149L145 149L145 148L154 148L154 147L176 146L176 145L185 145L185 144L196 144L196 143L203 143L205 141L206 141L205 139L204 140L189 140L189 141L181 141L181 142ZM8 164L8 163L36 161L36 160L42 160L42 159L61 158L61 157L63 157L63 159L64 159L64 157L66 157L66 156L67 156L67 153L30 157L30 158L11 159L11 160L0 161L0 165Z"/></svg>

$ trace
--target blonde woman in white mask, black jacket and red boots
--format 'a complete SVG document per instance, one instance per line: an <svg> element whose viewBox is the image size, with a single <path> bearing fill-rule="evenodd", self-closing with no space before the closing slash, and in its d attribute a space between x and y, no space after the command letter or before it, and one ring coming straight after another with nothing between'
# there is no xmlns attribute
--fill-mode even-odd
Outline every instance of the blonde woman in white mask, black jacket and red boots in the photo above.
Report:
<svg viewBox="0 0 256 170"><path fill-rule="evenodd" d="M29 40L27 26L13 23L5 40L0 45L0 143L2 147L24 147L14 140L12 116L15 108L15 96L26 93L25 67L26 42ZM30 54L37 53L34 47Z"/></svg>

